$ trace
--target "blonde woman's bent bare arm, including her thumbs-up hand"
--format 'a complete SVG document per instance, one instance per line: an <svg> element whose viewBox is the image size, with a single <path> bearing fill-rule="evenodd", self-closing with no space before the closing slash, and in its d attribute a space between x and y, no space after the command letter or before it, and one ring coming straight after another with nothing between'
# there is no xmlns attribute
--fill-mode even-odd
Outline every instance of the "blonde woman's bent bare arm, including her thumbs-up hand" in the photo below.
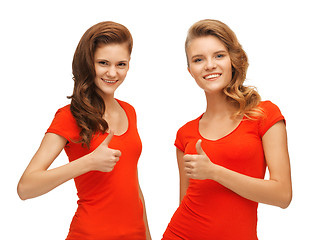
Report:
<svg viewBox="0 0 328 240"><path fill-rule="evenodd" d="M274 124L262 141L269 180L252 178L213 164L202 150L200 141L196 144L198 155L185 156L185 171L192 178L217 181L249 200L286 208L292 199L292 183L283 121Z"/></svg>

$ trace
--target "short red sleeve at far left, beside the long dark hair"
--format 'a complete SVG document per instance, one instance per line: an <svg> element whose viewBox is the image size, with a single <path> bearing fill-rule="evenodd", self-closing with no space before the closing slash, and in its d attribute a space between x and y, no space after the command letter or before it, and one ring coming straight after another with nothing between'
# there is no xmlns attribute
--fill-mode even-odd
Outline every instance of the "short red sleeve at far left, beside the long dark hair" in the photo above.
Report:
<svg viewBox="0 0 328 240"><path fill-rule="evenodd" d="M46 133L60 135L68 142L76 139L76 133L79 133L79 131L69 105L58 109Z"/></svg>

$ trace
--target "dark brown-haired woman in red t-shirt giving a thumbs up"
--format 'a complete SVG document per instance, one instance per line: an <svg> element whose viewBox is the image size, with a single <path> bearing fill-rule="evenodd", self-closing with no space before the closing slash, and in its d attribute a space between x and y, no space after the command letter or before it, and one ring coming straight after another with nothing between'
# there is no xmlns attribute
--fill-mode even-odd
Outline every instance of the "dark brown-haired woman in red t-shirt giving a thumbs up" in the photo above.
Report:
<svg viewBox="0 0 328 240"><path fill-rule="evenodd" d="M71 104L60 108L18 184L21 199L74 179L78 208L67 239L151 239L137 163L134 108L114 98L129 70L129 30L101 22L82 36L73 58ZM69 163L48 170L65 150Z"/></svg>

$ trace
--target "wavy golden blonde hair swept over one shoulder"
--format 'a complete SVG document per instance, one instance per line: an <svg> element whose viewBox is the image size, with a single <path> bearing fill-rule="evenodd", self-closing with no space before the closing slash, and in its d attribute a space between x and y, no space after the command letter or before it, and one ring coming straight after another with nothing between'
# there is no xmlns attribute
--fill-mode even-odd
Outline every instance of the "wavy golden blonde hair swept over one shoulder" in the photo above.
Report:
<svg viewBox="0 0 328 240"><path fill-rule="evenodd" d="M260 95L254 87L243 85L248 68L247 55L235 33L226 24L212 19L201 20L193 24L188 31L185 42L186 54L187 47L193 39L209 35L217 37L228 49L232 64L232 79L223 92L237 106L238 110L234 116L245 115L247 118L252 119L262 115L262 111L258 107L261 101Z"/></svg>

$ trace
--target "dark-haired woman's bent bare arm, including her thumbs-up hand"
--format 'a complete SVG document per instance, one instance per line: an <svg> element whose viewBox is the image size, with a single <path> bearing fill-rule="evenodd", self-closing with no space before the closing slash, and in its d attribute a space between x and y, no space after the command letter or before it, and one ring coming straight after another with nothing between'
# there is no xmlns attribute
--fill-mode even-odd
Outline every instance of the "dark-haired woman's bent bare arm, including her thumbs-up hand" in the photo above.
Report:
<svg viewBox="0 0 328 240"><path fill-rule="evenodd" d="M92 153L63 166L48 170L52 162L63 150L67 140L57 134L46 133L38 151L23 173L17 192L22 200L45 194L64 182L91 170L111 171L120 152L108 148L113 134L101 143Z"/></svg>

